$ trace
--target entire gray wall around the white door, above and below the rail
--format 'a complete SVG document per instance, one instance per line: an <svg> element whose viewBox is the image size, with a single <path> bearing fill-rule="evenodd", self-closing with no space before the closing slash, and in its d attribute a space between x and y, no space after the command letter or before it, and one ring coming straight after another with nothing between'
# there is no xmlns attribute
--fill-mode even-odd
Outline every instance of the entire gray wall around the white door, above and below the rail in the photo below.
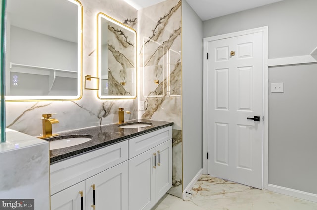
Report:
<svg viewBox="0 0 317 210"><path fill-rule="evenodd" d="M309 55L317 46L317 0L285 0L203 22L203 36L268 26L269 58ZM269 68L268 182L317 194L317 65ZM313 93L313 94L312 94Z"/></svg>

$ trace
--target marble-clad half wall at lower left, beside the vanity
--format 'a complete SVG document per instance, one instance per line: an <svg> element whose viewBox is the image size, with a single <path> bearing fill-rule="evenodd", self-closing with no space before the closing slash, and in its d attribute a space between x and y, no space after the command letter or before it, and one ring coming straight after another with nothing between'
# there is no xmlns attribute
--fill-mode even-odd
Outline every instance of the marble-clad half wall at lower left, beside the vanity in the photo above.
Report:
<svg viewBox="0 0 317 210"><path fill-rule="evenodd" d="M0 151L0 198L34 199L35 210L49 209L49 143L14 131L7 138ZM16 148L3 150L7 144Z"/></svg>

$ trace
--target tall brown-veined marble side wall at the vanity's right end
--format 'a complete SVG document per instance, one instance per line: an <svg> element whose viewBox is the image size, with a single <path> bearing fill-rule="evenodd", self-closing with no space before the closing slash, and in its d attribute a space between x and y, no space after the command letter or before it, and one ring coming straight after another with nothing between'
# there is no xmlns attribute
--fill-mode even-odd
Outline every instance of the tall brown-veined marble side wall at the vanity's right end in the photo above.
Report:
<svg viewBox="0 0 317 210"><path fill-rule="evenodd" d="M173 121L173 187L182 196L181 1L138 11L140 101L144 119Z"/></svg>

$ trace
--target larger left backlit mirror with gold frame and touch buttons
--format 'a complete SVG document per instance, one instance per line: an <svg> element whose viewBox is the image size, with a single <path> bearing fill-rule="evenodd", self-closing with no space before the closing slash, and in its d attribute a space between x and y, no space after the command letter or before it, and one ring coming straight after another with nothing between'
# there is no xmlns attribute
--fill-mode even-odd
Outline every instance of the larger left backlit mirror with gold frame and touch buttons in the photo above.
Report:
<svg viewBox="0 0 317 210"><path fill-rule="evenodd" d="M6 100L81 98L82 6L7 0Z"/></svg>

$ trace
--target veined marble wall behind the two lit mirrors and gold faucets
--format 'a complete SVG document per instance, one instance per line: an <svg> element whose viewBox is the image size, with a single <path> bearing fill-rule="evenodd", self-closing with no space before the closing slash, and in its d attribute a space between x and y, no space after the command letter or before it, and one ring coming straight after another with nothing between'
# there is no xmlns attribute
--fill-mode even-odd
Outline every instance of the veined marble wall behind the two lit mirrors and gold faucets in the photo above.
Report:
<svg viewBox="0 0 317 210"><path fill-rule="evenodd" d="M83 75L97 75L97 14L103 12L137 29L137 10L123 0L79 0L83 6ZM84 81L83 81L84 82ZM125 119L138 117L137 100L99 100L97 92L83 90L74 101L6 102L6 126L32 136L42 135L41 117L57 113L53 132L115 123L118 107L131 111Z"/></svg>

